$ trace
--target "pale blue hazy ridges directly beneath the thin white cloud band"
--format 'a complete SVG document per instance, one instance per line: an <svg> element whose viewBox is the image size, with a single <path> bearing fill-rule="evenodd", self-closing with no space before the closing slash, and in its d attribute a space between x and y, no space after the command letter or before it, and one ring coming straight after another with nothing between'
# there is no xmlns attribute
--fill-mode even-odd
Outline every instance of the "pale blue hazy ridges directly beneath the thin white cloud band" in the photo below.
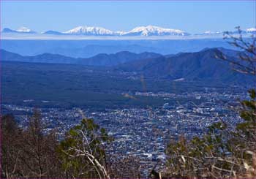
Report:
<svg viewBox="0 0 256 179"><path fill-rule="evenodd" d="M31 36L31 35L29 35ZM62 37L66 35L59 35ZM43 45L42 45L43 44ZM171 39L171 40L1 40L1 48L22 56L53 53L73 58L91 58L99 53L154 52L163 55L180 52L197 52L205 47L235 49L223 38L219 39Z"/></svg>

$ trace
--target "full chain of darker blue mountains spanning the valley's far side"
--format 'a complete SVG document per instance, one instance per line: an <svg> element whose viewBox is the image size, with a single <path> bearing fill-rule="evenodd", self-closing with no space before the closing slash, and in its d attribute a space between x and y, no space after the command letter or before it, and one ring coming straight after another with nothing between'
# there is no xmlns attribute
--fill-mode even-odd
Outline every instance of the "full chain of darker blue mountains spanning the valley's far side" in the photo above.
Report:
<svg viewBox="0 0 256 179"><path fill-rule="evenodd" d="M152 79L184 79L183 81L211 81L222 83L253 83L253 78L241 75L227 61L218 59L223 53L229 59L238 59L236 50L225 48L206 48L195 53L177 53L162 56L158 53L101 53L91 58L71 58L58 54L43 53L38 56L20 56L1 50L2 61L23 61L53 64L80 64L108 67L108 70L118 73L143 75Z"/></svg>

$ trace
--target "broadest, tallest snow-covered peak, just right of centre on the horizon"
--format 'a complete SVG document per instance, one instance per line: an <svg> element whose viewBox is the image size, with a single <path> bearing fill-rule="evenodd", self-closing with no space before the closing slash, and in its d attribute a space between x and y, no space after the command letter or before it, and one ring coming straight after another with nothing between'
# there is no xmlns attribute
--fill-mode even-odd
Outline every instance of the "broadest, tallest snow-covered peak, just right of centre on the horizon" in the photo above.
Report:
<svg viewBox="0 0 256 179"><path fill-rule="evenodd" d="M143 35L143 36L163 36L163 35L178 35L185 36L188 33L172 28L162 28L159 26L139 26L128 31L127 35Z"/></svg>

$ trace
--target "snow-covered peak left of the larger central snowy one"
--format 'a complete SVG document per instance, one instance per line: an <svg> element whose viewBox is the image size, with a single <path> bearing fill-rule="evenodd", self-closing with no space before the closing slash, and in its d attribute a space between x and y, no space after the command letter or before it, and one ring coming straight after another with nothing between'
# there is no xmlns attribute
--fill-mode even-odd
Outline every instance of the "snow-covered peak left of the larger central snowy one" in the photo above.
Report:
<svg viewBox="0 0 256 179"><path fill-rule="evenodd" d="M64 31L64 34L76 34L76 35L113 35L113 31L110 31L102 27L90 27L90 26L78 26L72 28L69 31Z"/></svg>

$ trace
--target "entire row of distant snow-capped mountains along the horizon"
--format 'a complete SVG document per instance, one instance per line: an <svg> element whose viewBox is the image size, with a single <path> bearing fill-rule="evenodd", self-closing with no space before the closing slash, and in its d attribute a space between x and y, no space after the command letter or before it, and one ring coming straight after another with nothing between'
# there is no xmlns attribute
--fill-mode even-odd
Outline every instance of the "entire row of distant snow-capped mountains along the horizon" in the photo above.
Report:
<svg viewBox="0 0 256 179"><path fill-rule="evenodd" d="M202 34L194 34L196 36L212 36L223 34L224 31L205 31ZM32 31L29 28L21 27L17 30L12 30L10 28L4 28L1 31L2 34L38 34L36 31ZM236 34L236 31L232 33ZM256 34L256 28L248 28L245 31L242 31L243 34ZM154 36L173 36L173 37L187 37L191 36L186 31L173 28L162 28L159 26L139 26L133 28L131 31L111 31L107 28L102 27L93 27L93 26L78 26L70 29L69 31L45 31L40 34L45 35L81 35L81 36L131 36L131 37L154 37Z"/></svg>

